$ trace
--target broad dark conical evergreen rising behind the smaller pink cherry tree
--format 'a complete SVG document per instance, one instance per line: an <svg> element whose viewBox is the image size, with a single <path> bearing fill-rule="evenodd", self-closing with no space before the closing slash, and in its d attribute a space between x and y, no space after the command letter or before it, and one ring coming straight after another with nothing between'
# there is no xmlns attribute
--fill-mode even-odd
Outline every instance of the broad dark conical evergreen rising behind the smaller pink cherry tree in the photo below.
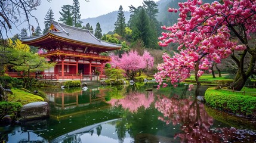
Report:
<svg viewBox="0 0 256 143"><path fill-rule="evenodd" d="M141 8L137 17L135 17L134 25L132 26L132 38L134 41L141 39L146 48L156 48L157 46L157 35L144 8Z"/></svg>

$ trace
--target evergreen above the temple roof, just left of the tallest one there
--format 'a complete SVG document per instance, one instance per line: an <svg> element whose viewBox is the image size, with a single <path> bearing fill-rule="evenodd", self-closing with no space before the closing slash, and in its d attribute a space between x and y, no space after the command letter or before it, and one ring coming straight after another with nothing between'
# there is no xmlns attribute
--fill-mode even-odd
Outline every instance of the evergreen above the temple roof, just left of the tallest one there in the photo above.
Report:
<svg viewBox="0 0 256 143"><path fill-rule="evenodd" d="M60 12L60 15L62 17L60 17L60 20L58 20L58 21L62 21L64 24L67 24L69 26L73 26L73 19L72 19L72 17L73 17L72 9L73 8L72 8L72 6L71 5L63 5L61 8L62 8L61 9L62 12Z"/></svg>

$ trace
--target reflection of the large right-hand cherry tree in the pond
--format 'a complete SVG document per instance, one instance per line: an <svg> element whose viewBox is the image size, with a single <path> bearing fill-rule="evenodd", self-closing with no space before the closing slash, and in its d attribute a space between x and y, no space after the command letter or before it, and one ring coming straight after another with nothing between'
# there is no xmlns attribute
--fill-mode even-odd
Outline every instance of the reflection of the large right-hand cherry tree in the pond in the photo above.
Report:
<svg viewBox="0 0 256 143"><path fill-rule="evenodd" d="M180 124L183 132L174 138L181 142L255 141L255 132L235 128L213 128L214 119L206 113L204 105L190 99L158 96L155 108L162 113L158 119L166 124Z"/></svg>

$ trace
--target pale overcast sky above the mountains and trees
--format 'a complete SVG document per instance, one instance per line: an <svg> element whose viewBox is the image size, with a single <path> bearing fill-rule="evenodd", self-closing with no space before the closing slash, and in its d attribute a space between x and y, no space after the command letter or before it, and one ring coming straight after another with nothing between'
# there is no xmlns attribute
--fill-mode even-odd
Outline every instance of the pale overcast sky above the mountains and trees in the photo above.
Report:
<svg viewBox="0 0 256 143"><path fill-rule="evenodd" d="M155 2L159 0L153 0ZM59 11L63 5L73 5L73 0L41 0L41 5L37 7L37 10L32 11L32 15L35 15L38 18L39 26L41 29L44 29L44 18L47 14L47 11L51 8L54 13L55 21L58 21L61 17ZM118 11L120 5L122 5L124 11L129 11L129 6L133 5L134 7L142 6L143 0L90 0L86 2L85 0L79 0L81 19L98 17L99 15L107 14L112 11ZM34 27L37 27L36 21L33 18L30 18L31 23ZM26 23L27 24L27 23ZM22 26L22 27L21 27ZM21 25L18 29L23 27L28 27L27 25ZM20 33L17 29L11 30L11 35L13 36L16 33ZM28 32L29 34L29 32Z"/></svg>

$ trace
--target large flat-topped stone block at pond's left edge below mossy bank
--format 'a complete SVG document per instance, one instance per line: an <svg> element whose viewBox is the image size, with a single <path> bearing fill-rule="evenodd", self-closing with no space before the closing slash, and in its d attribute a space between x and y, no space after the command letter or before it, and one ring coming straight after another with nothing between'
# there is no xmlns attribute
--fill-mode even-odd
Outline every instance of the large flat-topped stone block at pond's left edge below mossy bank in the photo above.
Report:
<svg viewBox="0 0 256 143"><path fill-rule="evenodd" d="M32 102L23 105L20 111L21 120L43 119L50 116L50 106L47 102Z"/></svg>

